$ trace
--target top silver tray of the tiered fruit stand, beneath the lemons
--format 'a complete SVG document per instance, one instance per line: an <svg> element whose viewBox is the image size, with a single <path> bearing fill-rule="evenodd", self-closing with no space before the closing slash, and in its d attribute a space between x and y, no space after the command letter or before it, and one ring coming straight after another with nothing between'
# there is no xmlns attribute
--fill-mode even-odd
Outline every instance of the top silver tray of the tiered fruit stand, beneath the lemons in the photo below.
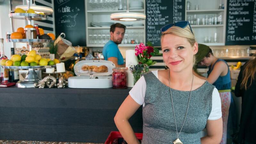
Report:
<svg viewBox="0 0 256 144"><path fill-rule="evenodd" d="M47 20L48 19L47 15L41 15L36 13L9 13L9 17L13 19L20 19L20 20L25 20L28 18L31 20Z"/></svg>

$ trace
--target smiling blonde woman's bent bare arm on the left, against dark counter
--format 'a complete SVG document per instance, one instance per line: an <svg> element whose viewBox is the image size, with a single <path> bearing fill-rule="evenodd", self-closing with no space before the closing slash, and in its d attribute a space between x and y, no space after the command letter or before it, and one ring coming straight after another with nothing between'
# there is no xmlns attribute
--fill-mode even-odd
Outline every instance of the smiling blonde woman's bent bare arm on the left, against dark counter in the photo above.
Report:
<svg viewBox="0 0 256 144"><path fill-rule="evenodd" d="M128 121L138 108L140 108L140 105L134 101L130 95L128 95L120 108L117 110L114 118L116 127L127 143L140 144L132 130L132 126Z"/></svg>

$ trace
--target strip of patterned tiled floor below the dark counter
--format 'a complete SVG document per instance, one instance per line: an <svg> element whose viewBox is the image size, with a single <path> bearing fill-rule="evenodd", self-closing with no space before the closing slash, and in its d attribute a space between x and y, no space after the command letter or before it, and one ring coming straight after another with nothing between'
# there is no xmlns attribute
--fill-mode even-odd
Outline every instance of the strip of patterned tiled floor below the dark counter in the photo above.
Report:
<svg viewBox="0 0 256 144"><path fill-rule="evenodd" d="M0 144L103 144L103 143L26 141L26 140L0 140Z"/></svg>

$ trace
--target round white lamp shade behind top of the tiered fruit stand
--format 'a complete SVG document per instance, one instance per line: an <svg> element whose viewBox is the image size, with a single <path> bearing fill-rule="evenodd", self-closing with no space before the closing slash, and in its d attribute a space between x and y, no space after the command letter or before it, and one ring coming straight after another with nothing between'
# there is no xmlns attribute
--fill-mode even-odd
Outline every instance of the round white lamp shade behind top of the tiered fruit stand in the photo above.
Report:
<svg viewBox="0 0 256 144"><path fill-rule="evenodd" d="M28 5L17 5L15 8L16 9L17 8L21 8L21 9L27 11L28 10ZM53 13L52 8L51 7L47 7L47 6L30 5L30 9L35 10L36 13L43 12L45 15L49 15L49 14Z"/></svg>

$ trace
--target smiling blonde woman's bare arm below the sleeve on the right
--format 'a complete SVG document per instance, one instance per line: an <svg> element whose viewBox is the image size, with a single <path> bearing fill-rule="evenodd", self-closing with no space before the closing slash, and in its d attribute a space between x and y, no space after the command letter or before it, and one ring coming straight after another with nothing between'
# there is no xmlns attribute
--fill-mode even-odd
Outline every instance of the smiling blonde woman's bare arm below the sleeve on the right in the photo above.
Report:
<svg viewBox="0 0 256 144"><path fill-rule="evenodd" d="M207 136L201 138L202 144L219 144L222 138L222 117L216 120L207 120Z"/></svg>

